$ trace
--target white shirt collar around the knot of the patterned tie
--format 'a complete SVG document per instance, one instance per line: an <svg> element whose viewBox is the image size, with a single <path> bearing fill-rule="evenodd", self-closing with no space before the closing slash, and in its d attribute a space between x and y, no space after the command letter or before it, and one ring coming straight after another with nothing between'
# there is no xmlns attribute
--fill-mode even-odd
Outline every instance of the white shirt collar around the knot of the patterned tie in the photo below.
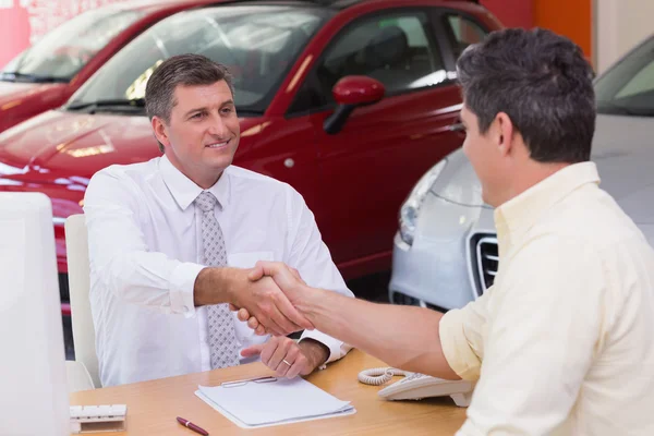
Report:
<svg viewBox="0 0 654 436"><path fill-rule="evenodd" d="M225 208L229 204L230 197L228 169L229 167L222 171L220 179L218 179L211 187L203 190L178 170L170 160L168 160L168 157L162 156L159 160L159 171L161 171L164 183L166 183L166 186L182 210L186 210L203 191L208 191L214 194L216 199L218 199L219 207Z"/></svg>

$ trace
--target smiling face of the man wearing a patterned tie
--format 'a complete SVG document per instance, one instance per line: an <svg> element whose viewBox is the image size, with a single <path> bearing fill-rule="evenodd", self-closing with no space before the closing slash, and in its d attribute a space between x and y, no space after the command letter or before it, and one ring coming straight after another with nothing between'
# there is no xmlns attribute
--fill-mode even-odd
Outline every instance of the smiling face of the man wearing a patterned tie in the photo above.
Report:
<svg viewBox="0 0 654 436"><path fill-rule="evenodd" d="M178 86L165 125L166 156L202 187L214 184L239 147L240 125L227 82ZM159 136L159 135L158 135ZM167 141L167 142L166 142Z"/></svg>

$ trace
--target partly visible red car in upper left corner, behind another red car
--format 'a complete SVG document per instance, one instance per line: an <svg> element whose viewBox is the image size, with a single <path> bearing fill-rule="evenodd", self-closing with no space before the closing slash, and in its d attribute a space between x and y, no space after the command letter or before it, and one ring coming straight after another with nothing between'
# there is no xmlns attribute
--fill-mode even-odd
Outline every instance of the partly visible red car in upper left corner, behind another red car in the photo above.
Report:
<svg viewBox="0 0 654 436"><path fill-rule="evenodd" d="M0 132L63 105L146 28L216 0L148 0L98 8L66 21L0 71Z"/></svg>

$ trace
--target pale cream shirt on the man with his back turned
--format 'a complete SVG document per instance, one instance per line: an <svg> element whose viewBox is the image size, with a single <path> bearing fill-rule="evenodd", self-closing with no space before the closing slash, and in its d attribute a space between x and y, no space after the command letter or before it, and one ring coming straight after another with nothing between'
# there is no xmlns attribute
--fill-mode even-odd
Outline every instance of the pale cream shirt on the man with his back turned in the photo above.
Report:
<svg viewBox="0 0 654 436"><path fill-rule="evenodd" d="M440 323L447 361L476 380L458 436L654 435L654 251L566 167L495 211L495 284Z"/></svg>

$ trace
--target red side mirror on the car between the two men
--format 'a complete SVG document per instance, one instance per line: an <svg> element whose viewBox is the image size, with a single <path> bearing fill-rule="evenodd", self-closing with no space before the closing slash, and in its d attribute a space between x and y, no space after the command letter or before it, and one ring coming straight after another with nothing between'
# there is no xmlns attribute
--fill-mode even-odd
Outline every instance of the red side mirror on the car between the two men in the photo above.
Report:
<svg viewBox="0 0 654 436"><path fill-rule="evenodd" d="M323 129L329 135L341 131L352 111L361 106L374 105L384 98L384 84L365 75L348 75L334 85L331 94L338 107L325 120Z"/></svg>

